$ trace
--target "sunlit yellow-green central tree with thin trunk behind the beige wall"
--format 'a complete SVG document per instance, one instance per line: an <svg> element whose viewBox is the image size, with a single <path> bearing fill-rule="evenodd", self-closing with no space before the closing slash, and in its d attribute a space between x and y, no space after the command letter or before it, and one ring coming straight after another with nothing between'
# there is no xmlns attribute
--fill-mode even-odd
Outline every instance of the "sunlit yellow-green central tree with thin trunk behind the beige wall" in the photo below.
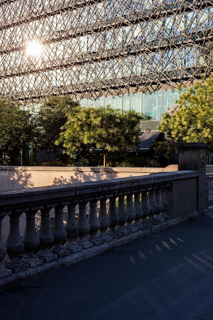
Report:
<svg viewBox="0 0 213 320"><path fill-rule="evenodd" d="M86 148L102 148L105 167L107 151L129 151L138 146L140 119L135 111L122 115L110 106L75 107L68 113L57 144L62 143L73 158Z"/></svg>

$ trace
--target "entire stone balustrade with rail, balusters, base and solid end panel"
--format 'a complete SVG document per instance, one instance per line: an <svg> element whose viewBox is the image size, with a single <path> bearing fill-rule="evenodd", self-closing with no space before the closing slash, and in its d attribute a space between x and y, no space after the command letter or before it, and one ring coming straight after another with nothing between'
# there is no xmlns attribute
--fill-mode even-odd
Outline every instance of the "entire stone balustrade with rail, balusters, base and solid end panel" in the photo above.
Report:
<svg viewBox="0 0 213 320"><path fill-rule="evenodd" d="M1 192L0 225L9 216L10 230L3 241L0 228L0 286L62 268L198 215L198 177L198 171L175 171ZM23 212L26 228L21 237Z"/></svg>

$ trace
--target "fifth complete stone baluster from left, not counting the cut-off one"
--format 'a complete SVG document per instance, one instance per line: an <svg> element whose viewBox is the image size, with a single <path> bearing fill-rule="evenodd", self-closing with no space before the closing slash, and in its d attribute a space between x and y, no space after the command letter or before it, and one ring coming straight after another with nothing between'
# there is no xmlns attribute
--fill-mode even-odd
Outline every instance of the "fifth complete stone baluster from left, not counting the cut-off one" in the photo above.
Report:
<svg viewBox="0 0 213 320"><path fill-rule="evenodd" d="M76 204L67 204L68 215L66 220L66 232L67 232L67 242L64 244L64 248L68 249L70 253L75 254L82 250L82 247L77 243L77 237L79 234L78 226L76 223Z"/></svg>

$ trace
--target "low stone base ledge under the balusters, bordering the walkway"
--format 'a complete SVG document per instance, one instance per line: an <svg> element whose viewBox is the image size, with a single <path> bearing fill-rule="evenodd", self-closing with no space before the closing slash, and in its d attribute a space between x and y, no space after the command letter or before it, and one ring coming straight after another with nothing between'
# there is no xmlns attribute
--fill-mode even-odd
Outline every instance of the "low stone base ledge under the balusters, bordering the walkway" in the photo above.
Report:
<svg viewBox="0 0 213 320"><path fill-rule="evenodd" d="M82 260L89 259L96 255L100 255L109 249L126 245L134 240L149 236L153 233L161 232L169 227L180 224L186 220L194 219L196 217L198 217L198 212L193 212L182 217L173 218L171 220L154 225L150 228L146 228L144 230L129 234L122 238L113 239L108 243L102 243L97 246L90 247L86 250L83 250L82 252L66 256L62 259L45 263L41 266L29 268L25 271L13 273L8 277L0 279L0 291L15 286L23 281L29 281L38 277L42 277L46 273L62 269Z"/></svg>

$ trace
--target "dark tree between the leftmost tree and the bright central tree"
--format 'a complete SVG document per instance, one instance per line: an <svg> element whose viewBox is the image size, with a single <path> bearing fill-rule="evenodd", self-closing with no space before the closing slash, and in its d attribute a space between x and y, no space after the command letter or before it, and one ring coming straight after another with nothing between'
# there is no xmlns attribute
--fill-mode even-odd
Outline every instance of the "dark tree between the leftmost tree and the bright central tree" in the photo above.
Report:
<svg viewBox="0 0 213 320"><path fill-rule="evenodd" d="M49 97L40 107L37 116L37 150L53 150L55 152L61 148L56 147L55 141L59 138L61 127L67 121L67 112L79 102L73 101L67 95Z"/></svg>

